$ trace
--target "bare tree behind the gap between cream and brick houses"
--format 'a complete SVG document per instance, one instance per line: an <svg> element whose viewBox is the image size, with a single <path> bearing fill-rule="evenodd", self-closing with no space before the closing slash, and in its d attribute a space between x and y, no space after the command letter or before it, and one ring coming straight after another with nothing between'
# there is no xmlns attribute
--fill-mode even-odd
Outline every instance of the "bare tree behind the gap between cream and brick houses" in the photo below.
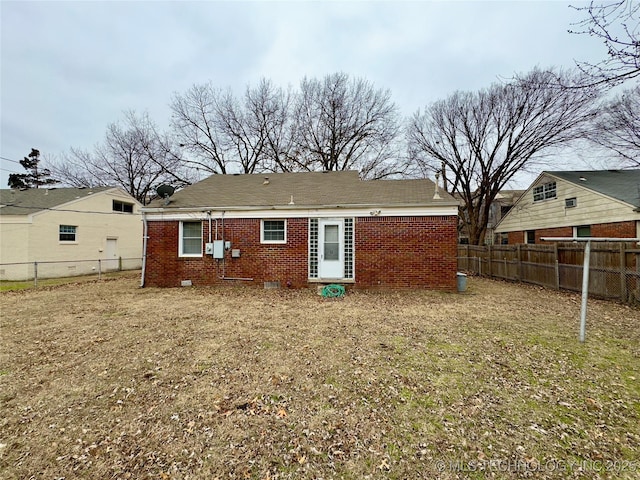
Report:
<svg viewBox="0 0 640 480"><path fill-rule="evenodd" d="M158 133L146 113L133 111L125 113L124 122L110 124L93 151L71 148L53 171L71 186L120 186L143 204L159 184L184 186L193 180L169 137Z"/></svg>

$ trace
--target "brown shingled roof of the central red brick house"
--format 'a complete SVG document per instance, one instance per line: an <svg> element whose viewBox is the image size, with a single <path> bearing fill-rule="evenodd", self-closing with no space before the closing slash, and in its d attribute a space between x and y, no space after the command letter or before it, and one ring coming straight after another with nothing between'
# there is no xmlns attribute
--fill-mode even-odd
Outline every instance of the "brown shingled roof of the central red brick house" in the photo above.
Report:
<svg viewBox="0 0 640 480"><path fill-rule="evenodd" d="M431 180L360 180L356 171L212 175L149 208L458 205L443 191L434 200L434 192Z"/></svg>

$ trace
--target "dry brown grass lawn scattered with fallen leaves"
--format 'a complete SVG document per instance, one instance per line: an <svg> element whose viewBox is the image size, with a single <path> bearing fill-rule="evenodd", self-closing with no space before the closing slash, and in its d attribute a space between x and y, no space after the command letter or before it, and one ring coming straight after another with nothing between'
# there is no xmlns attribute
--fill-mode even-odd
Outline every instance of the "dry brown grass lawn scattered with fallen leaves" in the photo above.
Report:
<svg viewBox="0 0 640 480"><path fill-rule="evenodd" d="M638 478L640 311L465 294L0 294L3 479ZM445 463L442 463L445 462Z"/></svg>

